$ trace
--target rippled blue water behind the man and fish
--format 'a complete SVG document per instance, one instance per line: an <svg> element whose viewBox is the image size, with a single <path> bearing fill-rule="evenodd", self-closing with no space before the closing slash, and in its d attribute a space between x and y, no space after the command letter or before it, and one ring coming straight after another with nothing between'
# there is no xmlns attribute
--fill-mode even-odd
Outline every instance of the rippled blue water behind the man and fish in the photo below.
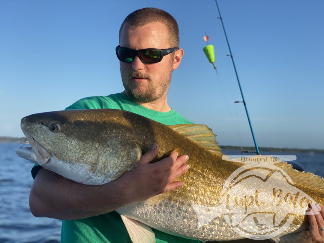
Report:
<svg viewBox="0 0 324 243"><path fill-rule="evenodd" d="M33 167L16 155L19 144L0 144L0 243L60 242L61 224L57 219L36 218L29 210L29 191ZM239 151L224 150L228 155ZM262 152L262 155L295 155L306 171L324 177L324 154L289 154Z"/></svg>

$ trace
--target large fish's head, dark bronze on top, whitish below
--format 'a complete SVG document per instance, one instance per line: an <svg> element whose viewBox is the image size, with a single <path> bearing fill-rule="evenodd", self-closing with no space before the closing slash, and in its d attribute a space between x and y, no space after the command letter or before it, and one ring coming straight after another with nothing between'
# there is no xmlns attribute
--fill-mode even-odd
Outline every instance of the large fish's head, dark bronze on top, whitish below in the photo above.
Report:
<svg viewBox="0 0 324 243"><path fill-rule="evenodd" d="M86 111L86 110L84 110ZM113 112L112 112L113 113ZM96 116L97 115L97 116ZM132 170L142 151L119 118L99 112L65 110L29 115L21 129L31 149L19 156L84 184L104 184Z"/></svg>

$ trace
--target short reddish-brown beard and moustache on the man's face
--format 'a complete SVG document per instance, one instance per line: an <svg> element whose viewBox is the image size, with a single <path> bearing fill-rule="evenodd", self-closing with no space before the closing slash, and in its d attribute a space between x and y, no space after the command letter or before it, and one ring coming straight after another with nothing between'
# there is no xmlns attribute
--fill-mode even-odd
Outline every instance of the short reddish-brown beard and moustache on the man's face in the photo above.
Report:
<svg viewBox="0 0 324 243"><path fill-rule="evenodd" d="M142 90L140 88L143 85L142 83L133 83L133 86L131 86L129 82L125 82L124 80L122 80L126 93L128 94L129 98L131 98L135 102L148 103L161 99L163 96L166 95L169 85L171 83L171 71L164 77L161 77L165 80L161 83L158 83L157 86L154 86L152 84L152 80L149 75L146 75L142 72L133 71L131 78L132 77L143 77L147 78L148 81L147 88L145 90Z"/></svg>

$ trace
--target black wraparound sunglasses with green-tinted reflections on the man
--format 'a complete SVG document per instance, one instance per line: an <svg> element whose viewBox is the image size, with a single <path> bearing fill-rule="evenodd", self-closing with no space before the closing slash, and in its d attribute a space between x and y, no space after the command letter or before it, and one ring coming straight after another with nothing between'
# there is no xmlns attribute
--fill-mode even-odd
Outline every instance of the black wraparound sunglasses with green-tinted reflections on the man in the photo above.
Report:
<svg viewBox="0 0 324 243"><path fill-rule="evenodd" d="M134 61L135 56L138 56L142 63L158 63L161 62L162 58L175 50L178 50L179 47L173 47L169 49L155 49L155 48L146 48L141 50L133 50L127 47L116 47L116 55L118 59L124 63L131 63Z"/></svg>

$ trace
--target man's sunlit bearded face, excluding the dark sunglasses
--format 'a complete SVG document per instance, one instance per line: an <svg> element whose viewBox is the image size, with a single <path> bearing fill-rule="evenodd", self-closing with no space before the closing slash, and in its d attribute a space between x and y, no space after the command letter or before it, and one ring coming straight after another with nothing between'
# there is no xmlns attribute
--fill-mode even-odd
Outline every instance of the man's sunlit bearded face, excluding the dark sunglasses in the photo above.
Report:
<svg viewBox="0 0 324 243"><path fill-rule="evenodd" d="M167 49L168 30L159 22L149 23L136 29L124 25L120 45L134 50L145 48ZM144 64L138 56L132 63L120 62L121 79L128 96L138 102L154 102L167 96L171 82L173 54L163 57L162 61Z"/></svg>

